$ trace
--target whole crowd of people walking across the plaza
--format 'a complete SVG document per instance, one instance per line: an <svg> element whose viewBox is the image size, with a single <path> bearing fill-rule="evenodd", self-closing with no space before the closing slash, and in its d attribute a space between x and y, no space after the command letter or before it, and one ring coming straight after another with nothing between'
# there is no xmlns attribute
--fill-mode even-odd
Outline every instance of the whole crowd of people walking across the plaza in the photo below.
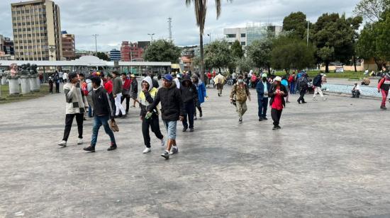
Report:
<svg viewBox="0 0 390 218"><path fill-rule="evenodd" d="M210 73L208 73L210 74ZM206 81L211 75L205 75ZM247 100L252 101L250 88L254 88L257 93L258 117L259 121L267 120L267 108L271 108L273 120L272 130L279 130L282 111L286 103L289 103L289 94L299 93L297 102L306 103L306 93L313 93L313 101L319 94L323 101L322 86L325 84L326 75L318 74L313 79L308 79L306 71L299 71L298 74L286 74L286 76L274 76L273 74L262 73L257 76L250 71L250 76L243 74L233 74L232 89L230 91L230 103L235 105L238 113L238 122L243 122L243 115L247 111ZM58 143L61 147L67 147L69 132L72 128L74 117L77 122L78 139L77 144L83 144L83 122L88 117L93 117L91 143L85 147L85 151L94 152L99 134L99 128L103 125L104 131L111 139L108 151L117 148L115 135L116 118L126 118L129 112L130 103L136 108L140 107L140 120L142 122L142 133L145 149L143 153L152 151L150 144L150 130L160 139L161 146L166 145L165 151L161 154L165 159L169 159L172 154L177 154L177 122L182 122L182 131L194 132L194 120L197 120L196 111L199 110L199 117L203 116L201 104L208 98L206 84L199 78L199 74L190 72L165 74L162 76L162 87L153 79L152 74L145 76L141 81L140 93L138 93L138 81L134 74L119 73L113 71L112 74L94 72L89 76L69 73L64 80L66 115L65 130L62 141ZM250 80L246 80L247 78ZM210 81L216 86L218 96L222 96L223 86L227 79L221 73L212 75ZM57 77L55 78L57 79ZM55 81L53 79L53 81ZM383 98L381 109L386 110L386 98L390 88L390 76L385 74L379 80L378 92ZM356 83L352 88L352 97L360 97L360 87ZM131 101L130 101L131 100ZM126 101L126 107L123 107ZM160 114L162 123L167 131L165 138L160 130Z"/></svg>

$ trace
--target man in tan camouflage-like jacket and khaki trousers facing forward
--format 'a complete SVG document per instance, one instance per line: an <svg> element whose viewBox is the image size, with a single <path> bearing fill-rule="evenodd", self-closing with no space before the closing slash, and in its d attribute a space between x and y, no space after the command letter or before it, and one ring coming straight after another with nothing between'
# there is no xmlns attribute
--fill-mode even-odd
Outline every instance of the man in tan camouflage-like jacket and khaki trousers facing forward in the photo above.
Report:
<svg viewBox="0 0 390 218"><path fill-rule="evenodd" d="M238 113L238 122L243 122L243 115L247 111L247 99L250 99L250 92L247 84L244 83L243 75L238 76L237 83L233 85L230 92L230 102L235 102L235 109Z"/></svg>

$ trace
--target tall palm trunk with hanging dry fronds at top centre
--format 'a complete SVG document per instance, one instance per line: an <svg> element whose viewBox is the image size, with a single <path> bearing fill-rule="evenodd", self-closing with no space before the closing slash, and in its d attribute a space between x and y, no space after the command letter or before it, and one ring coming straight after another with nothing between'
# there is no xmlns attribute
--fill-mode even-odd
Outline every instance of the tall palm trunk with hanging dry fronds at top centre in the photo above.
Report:
<svg viewBox="0 0 390 218"><path fill-rule="evenodd" d="M217 19L221 15L221 0L216 1L216 11ZM233 0L227 0L233 1ZM203 50L203 34L204 34L204 23L206 21L206 12L207 12L207 0L186 0L186 6L194 4L195 16L196 16L196 25L199 27L199 38L201 46L201 80L204 81L204 50Z"/></svg>

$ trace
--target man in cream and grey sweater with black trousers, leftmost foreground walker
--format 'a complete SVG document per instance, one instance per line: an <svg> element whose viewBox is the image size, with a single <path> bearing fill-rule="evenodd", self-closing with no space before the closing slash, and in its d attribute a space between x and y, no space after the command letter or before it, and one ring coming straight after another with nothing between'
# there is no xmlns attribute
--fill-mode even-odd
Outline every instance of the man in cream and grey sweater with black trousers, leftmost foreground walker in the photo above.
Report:
<svg viewBox="0 0 390 218"><path fill-rule="evenodd" d="M67 146L67 139L69 138L72 122L76 117L77 129L79 130L79 138L77 144L82 144L83 133L83 119L85 108L88 108L87 98L82 93L82 88L76 73L69 74L69 82L64 85L64 93L66 100L66 116L65 116L65 130L64 137L58 145L62 147Z"/></svg>

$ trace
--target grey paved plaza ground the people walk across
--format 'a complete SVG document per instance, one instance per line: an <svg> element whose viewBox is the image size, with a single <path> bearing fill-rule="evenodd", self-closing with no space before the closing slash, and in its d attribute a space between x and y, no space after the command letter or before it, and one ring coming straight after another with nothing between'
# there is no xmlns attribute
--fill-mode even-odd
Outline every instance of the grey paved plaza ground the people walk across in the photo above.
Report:
<svg viewBox="0 0 390 218"><path fill-rule="evenodd" d="M139 108L118 120L117 150L101 129L87 154L91 120L84 145L75 124L68 147L56 144L63 93L0 105L0 217L390 217L390 111L379 99L290 96L275 131L270 115L257 120L254 89L239 124L229 91L208 90L204 117L195 132L178 125L167 161L154 136L142 154Z"/></svg>

